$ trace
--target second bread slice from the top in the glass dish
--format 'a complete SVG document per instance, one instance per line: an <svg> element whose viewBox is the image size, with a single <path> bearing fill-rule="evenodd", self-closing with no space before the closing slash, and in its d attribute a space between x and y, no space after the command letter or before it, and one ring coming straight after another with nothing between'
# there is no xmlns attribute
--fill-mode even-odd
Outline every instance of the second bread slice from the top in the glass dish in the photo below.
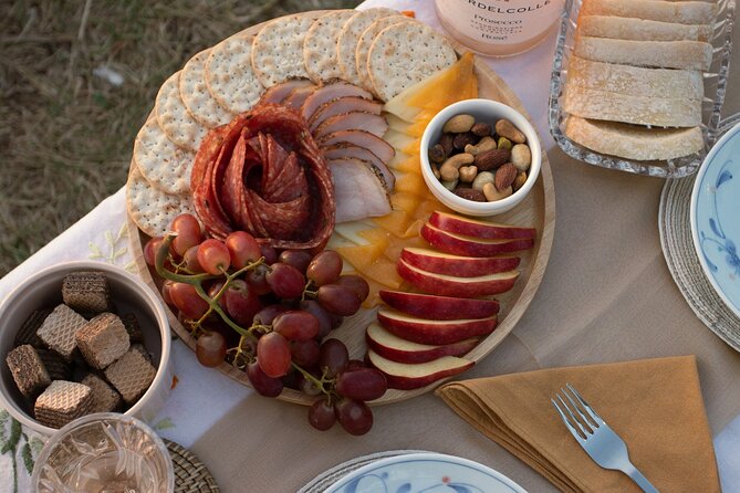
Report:
<svg viewBox="0 0 740 493"><path fill-rule="evenodd" d="M615 40L707 41L711 35L711 27L612 15L581 15L579 32L584 36Z"/></svg>

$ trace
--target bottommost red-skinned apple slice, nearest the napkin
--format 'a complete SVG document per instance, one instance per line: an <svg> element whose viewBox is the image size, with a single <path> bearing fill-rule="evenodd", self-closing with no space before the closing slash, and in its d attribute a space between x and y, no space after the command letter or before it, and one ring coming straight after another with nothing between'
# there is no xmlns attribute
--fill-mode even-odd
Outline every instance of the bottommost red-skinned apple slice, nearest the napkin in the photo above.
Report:
<svg viewBox="0 0 740 493"><path fill-rule="evenodd" d="M371 366L385 375L388 388L399 390L426 387L442 378L460 374L475 365L469 359L456 356L442 356L427 363L397 363L384 358L372 349L367 350L366 359Z"/></svg>

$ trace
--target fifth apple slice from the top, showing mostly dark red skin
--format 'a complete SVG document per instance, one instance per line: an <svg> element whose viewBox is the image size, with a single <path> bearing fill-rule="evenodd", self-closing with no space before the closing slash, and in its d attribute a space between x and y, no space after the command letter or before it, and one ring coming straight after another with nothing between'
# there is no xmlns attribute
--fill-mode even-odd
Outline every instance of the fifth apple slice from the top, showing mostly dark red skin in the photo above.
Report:
<svg viewBox="0 0 740 493"><path fill-rule="evenodd" d="M454 321L460 316L486 318L499 313L499 302L496 300L471 300L386 290L381 290L379 294L381 300L390 307L432 321Z"/></svg>

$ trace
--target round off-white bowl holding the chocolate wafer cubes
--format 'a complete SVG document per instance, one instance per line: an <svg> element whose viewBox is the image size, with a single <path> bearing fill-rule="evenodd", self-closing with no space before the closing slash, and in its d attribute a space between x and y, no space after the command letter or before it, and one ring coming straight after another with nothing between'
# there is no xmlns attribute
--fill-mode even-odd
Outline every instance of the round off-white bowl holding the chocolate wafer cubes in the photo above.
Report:
<svg viewBox="0 0 740 493"><path fill-rule="evenodd" d="M153 356L157 374L148 390L126 410L144 421L152 419L169 396L173 370L169 360L171 335L165 308L158 296L140 280L126 271L103 262L64 262L44 269L19 284L0 305L0 406L23 426L42 434L55 429L33 419L31 409L6 364L13 348L15 334L33 311L53 308L62 303L62 280L74 271L102 271L108 280L111 296L119 313L135 313L144 334L144 346Z"/></svg>

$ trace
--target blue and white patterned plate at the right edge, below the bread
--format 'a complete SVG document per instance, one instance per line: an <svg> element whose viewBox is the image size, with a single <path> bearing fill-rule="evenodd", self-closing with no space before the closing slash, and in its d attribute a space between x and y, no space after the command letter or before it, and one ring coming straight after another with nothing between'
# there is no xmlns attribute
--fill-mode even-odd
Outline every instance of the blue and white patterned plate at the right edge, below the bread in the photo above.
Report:
<svg viewBox="0 0 740 493"><path fill-rule="evenodd" d="M740 125L719 139L697 174L691 234L709 282L740 316Z"/></svg>

